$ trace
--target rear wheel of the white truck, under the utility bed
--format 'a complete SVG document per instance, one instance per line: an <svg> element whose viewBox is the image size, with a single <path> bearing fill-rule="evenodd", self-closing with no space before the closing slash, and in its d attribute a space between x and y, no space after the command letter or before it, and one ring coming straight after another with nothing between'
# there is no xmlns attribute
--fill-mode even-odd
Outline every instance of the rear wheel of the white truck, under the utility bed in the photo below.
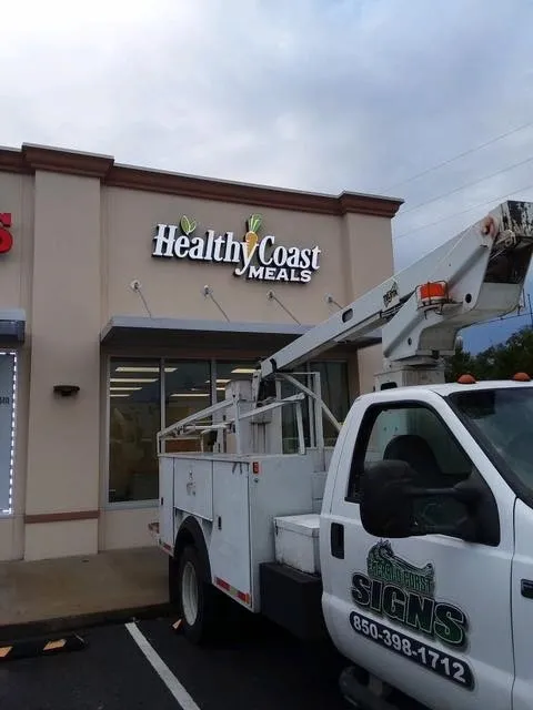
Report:
<svg viewBox="0 0 533 710"><path fill-rule="evenodd" d="M202 643L214 631L215 590L202 572L195 548L185 547L178 564L178 604L183 633L193 643Z"/></svg>

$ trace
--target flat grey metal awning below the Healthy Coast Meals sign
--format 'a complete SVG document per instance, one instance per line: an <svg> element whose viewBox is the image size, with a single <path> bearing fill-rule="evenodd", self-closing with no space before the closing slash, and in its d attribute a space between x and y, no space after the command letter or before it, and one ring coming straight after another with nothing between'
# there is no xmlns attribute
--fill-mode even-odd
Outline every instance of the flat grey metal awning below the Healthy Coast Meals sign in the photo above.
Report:
<svg viewBox="0 0 533 710"><path fill-rule="evenodd" d="M172 348L180 349L253 349L268 356L303 335L311 325L286 323L228 323L225 321L192 321L117 315L100 333L107 348ZM380 343L376 336L361 338L351 348Z"/></svg>

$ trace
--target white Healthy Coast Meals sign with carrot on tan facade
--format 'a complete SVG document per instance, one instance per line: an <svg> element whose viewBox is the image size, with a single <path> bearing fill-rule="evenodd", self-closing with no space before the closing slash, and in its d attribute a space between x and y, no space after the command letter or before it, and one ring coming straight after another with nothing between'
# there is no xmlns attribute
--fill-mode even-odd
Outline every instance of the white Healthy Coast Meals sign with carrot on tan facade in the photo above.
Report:
<svg viewBox="0 0 533 710"><path fill-rule="evenodd" d="M194 236L197 223L183 215L179 225L158 224L152 256L234 264L233 274L248 280L309 283L319 270L320 247L276 245L273 234L258 235L261 222L260 214L252 214L242 240L235 240L233 232L215 236L213 230Z"/></svg>

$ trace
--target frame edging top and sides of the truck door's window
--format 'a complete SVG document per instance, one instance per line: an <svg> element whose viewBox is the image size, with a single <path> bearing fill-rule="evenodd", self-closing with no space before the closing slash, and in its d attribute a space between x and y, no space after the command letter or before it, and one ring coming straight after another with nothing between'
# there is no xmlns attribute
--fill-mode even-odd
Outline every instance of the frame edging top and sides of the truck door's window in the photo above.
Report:
<svg viewBox="0 0 533 710"><path fill-rule="evenodd" d="M359 426L358 436L355 438L355 444L353 447L352 458L350 460L350 470L346 480L346 488L344 490L344 501L353 505L360 505L361 497L360 493L354 496L350 495L352 490L352 480L355 475L355 466L359 466L361 460L361 449L363 453L366 452L370 437L372 435L372 429L374 424L382 412L385 409L426 409L431 412L431 414L436 418L436 420L444 427L444 430L452 437L457 446L460 453L465 457L465 459L472 465L472 469L475 469L475 464L473 463L471 456L465 452L463 445L457 439L455 434L452 432L447 423L443 419L442 415L429 403L422 402L420 399L402 399L402 400L390 400L390 402L380 402L375 404L371 404L365 413L363 414L363 418L361 419L361 424ZM375 413L375 414L374 414ZM364 448L363 448L364 447ZM359 488L358 488L359 491Z"/></svg>

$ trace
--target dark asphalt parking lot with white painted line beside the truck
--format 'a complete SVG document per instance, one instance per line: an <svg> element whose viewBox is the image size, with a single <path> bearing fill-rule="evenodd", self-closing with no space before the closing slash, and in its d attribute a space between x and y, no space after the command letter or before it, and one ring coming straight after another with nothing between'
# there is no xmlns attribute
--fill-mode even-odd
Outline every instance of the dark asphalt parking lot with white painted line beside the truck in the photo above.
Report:
<svg viewBox="0 0 533 710"><path fill-rule="evenodd" d="M248 615L247 615L248 616ZM253 619L209 648L177 633L174 618L80 630L86 648L0 663L9 710L346 710L329 647L301 643ZM414 710L406 700L400 707Z"/></svg>

